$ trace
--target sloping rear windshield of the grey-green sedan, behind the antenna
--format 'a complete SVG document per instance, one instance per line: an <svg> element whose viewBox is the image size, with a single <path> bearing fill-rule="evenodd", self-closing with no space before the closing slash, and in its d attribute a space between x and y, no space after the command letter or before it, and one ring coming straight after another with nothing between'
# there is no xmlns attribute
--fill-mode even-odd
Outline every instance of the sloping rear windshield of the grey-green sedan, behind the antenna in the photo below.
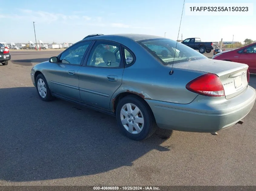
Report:
<svg viewBox="0 0 256 191"><path fill-rule="evenodd" d="M150 39L138 41L148 52L150 52L163 65L189 62L198 59L207 59L198 51L171 39ZM177 43L177 49L175 51Z"/></svg>

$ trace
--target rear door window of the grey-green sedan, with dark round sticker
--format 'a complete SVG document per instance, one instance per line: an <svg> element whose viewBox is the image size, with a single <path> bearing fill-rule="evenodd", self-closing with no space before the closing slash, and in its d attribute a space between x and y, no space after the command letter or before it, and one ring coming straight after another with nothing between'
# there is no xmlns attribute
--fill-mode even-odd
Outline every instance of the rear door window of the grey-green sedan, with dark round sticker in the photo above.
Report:
<svg viewBox="0 0 256 191"><path fill-rule="evenodd" d="M95 67L119 67L121 63L119 44L96 42L89 54L86 65Z"/></svg>

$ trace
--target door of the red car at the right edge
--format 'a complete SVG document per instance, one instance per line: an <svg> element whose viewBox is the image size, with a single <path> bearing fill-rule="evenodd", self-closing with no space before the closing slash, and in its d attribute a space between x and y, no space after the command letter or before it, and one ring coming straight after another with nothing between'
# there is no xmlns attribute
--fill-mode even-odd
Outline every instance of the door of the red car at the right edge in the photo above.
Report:
<svg viewBox="0 0 256 191"><path fill-rule="evenodd" d="M246 50L241 53L239 62L247 64L251 73L256 73L256 44L248 46Z"/></svg>

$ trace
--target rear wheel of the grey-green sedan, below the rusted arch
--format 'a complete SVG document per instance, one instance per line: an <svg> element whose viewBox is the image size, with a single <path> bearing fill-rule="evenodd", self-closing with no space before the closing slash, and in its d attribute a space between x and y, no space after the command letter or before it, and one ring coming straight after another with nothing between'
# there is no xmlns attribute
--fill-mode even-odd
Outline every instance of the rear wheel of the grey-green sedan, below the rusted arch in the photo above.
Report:
<svg viewBox="0 0 256 191"><path fill-rule="evenodd" d="M151 108L145 100L136 95L126 96L118 102L116 119L121 132L136 141L150 137L157 129Z"/></svg>

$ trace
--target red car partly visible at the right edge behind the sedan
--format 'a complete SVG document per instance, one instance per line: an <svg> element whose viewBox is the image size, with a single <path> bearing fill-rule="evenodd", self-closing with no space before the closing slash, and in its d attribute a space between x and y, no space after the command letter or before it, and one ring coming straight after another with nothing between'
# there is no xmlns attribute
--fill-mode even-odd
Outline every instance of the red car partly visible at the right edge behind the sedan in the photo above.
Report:
<svg viewBox="0 0 256 191"><path fill-rule="evenodd" d="M249 66L249 72L256 74L256 43L215 54L212 59L247 64Z"/></svg>

